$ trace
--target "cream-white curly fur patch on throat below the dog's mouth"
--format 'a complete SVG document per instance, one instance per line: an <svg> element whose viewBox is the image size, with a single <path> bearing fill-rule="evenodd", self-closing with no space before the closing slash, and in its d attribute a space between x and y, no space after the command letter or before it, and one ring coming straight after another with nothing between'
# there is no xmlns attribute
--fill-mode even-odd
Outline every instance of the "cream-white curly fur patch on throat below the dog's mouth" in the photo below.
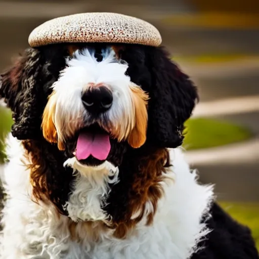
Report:
<svg viewBox="0 0 259 259"><path fill-rule="evenodd" d="M68 159L65 165L75 169L76 179L73 191L65 208L75 221L106 221L107 215L101 206L109 193L108 184L118 182L118 168L105 162L98 167L82 166L75 158Z"/></svg>

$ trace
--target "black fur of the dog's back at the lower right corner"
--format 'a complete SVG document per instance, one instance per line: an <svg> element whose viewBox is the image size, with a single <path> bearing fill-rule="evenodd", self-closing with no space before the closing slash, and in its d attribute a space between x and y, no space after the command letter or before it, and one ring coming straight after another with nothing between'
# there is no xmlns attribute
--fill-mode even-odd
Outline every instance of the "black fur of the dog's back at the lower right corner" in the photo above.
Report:
<svg viewBox="0 0 259 259"><path fill-rule="evenodd" d="M258 259L251 232L235 222L217 203L210 210L207 222L212 230L199 247L205 247L190 259Z"/></svg>

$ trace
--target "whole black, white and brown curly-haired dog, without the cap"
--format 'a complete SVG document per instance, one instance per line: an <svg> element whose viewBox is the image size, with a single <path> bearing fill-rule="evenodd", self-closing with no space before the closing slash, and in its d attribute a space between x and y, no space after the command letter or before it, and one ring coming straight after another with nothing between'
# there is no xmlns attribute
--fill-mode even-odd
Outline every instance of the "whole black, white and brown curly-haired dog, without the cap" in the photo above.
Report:
<svg viewBox="0 0 259 259"><path fill-rule="evenodd" d="M259 258L185 160L198 93L164 48L28 48L0 97L14 119L1 258Z"/></svg>

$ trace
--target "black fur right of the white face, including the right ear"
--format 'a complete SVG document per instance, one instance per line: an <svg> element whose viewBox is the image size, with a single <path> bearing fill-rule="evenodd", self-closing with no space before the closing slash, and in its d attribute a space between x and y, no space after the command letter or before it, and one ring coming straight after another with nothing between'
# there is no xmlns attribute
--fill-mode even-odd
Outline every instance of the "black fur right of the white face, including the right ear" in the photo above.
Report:
<svg viewBox="0 0 259 259"><path fill-rule="evenodd" d="M162 48L128 45L121 58L131 80L149 93L148 141L157 147L180 146L184 122L198 100L192 81Z"/></svg>

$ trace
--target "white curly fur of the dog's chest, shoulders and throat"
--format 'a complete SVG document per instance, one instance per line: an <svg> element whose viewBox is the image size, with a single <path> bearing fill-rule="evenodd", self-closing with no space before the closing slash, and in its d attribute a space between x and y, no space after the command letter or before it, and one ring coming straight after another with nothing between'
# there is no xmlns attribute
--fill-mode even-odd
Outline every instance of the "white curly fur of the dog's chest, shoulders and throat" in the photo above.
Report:
<svg viewBox="0 0 259 259"><path fill-rule="evenodd" d="M65 216L59 216L51 205L31 201L29 171L22 165L23 150L11 138L5 167L5 188L9 195L4 208L4 230L1 240L1 258L5 259L187 259L208 229L200 224L202 215L209 217L208 209L213 198L211 186L196 182L180 148L170 150L171 164L162 183L164 196L159 201L154 223L145 226L140 222L126 239L116 239L113 230L100 232L100 241L84 233L81 222L77 233L80 243L71 240ZM75 160L66 165L78 170L73 191L66 204L75 221L105 220L101 210L103 196L109 193L107 183L119 181L117 168L104 163L94 168L80 167ZM108 178L108 176L113 176ZM152 210L149 204L147 210Z"/></svg>

